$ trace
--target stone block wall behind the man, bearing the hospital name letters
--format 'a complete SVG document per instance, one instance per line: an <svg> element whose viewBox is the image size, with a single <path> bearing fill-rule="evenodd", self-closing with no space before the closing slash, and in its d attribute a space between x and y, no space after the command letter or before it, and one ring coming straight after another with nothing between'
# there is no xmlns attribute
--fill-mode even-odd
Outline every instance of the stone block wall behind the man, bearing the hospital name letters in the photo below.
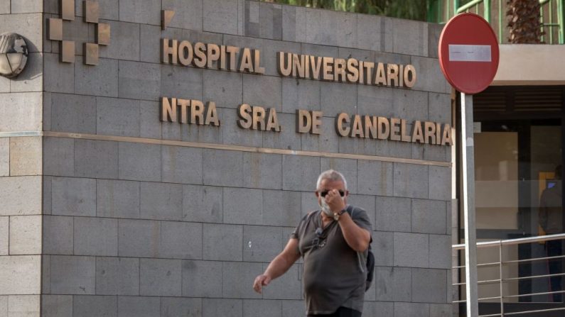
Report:
<svg viewBox="0 0 565 317"><path fill-rule="evenodd" d="M341 138L333 127L340 112L451 123L441 26L243 0L100 0L112 42L88 66L82 43L95 33L78 17L82 1L63 27L74 64L59 62L42 28L60 17L59 0L43 1L43 16L8 2L0 26L37 52L27 75L0 79L0 129L18 135L0 138L0 277L23 261L36 279L19 291L0 278L1 295L40 294L42 258L41 316L303 316L301 263L262 295L252 282L317 208L316 177L334 168L374 226L364 316L451 315L451 148ZM161 9L176 11L166 30ZM161 38L259 49L266 72L166 65ZM278 51L411 64L418 80L402 89L281 77ZM222 126L161 122L162 96L215 101ZM275 108L283 130L238 127L242 103ZM322 134L296 133L296 109L323 111ZM21 135L30 130L43 136ZM22 152L35 165L19 166ZM18 301L0 296L0 316Z"/></svg>

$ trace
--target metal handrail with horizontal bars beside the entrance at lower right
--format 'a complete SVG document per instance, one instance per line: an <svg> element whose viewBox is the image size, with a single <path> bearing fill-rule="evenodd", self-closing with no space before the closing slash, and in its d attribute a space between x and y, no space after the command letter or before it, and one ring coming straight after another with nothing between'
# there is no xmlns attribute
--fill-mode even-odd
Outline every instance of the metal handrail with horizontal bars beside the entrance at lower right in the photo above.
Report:
<svg viewBox="0 0 565 317"><path fill-rule="evenodd" d="M529 237L529 238L517 238L517 239L509 239L509 240L494 240L494 241L486 241L486 242L480 242L476 244L477 248L498 248L498 261L497 262L488 262L488 263L483 263L483 264L479 264L478 267L480 266L494 266L497 265L499 268L499 279L486 279L483 281L478 281L477 284L499 284L500 285L500 295L499 296L490 296L490 297L483 297L483 298L479 298L478 301L487 301L487 300L498 300L500 301L500 313L494 313L494 314L489 314L489 315L479 315L479 317L489 317L489 316L515 316L515 315L520 315L520 314L524 314L524 313L538 313L538 312L545 312L545 311L561 311L561 310L565 310L565 307L561 307L561 308L547 308L547 309L537 309L534 311L517 311L517 312L509 312L509 313L505 313L504 311L504 299L516 299L516 298L521 298L521 297L527 297L527 296L541 296L541 295L551 295L551 294L563 294L565 293L565 290L558 290L558 291L544 291L544 292L539 292L539 293L529 293L529 294L504 294L504 289L503 289L503 284L508 283L508 282L515 282L515 281L520 281L520 280L524 280L524 279L539 279L539 278L551 278L551 277L562 277L565 276L565 272L561 272L561 273L554 273L554 274L538 274L538 275L532 275L529 277L502 277L503 276L503 267L505 267L505 265L510 265L510 264L515 264L515 263L521 263L521 262L533 262L533 261L539 261L539 260L555 260L555 259L563 259L565 258L565 255L555 255L555 256L551 256L551 257L536 257L536 258L532 258L532 259L522 259L522 260L507 260L504 261L502 259L502 248L505 246L509 246L509 245L520 245L520 244L525 244L525 243L539 243L539 242L547 242L547 241L551 241L551 240L565 240L565 233L559 233L556 235L541 235L541 236L537 236L537 237ZM452 250L464 250L465 249L465 245L452 245ZM454 266L453 269L463 269L465 267L465 265L460 265L460 266ZM452 285L453 286L462 286L462 285L466 285L466 282L455 282ZM466 299L461 299L458 301L453 301L453 303L466 303L467 300Z"/></svg>

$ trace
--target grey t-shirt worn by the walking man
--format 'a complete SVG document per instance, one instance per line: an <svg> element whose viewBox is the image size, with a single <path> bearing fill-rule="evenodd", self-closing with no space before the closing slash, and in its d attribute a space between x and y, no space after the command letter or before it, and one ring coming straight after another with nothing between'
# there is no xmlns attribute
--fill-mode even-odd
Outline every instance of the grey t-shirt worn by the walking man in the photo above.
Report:
<svg viewBox="0 0 565 317"><path fill-rule="evenodd" d="M371 231L367 212L353 206L347 209L357 226ZM321 230L316 234L318 228ZM291 238L298 239L298 251L303 257L306 312L328 314L340 306L362 311L367 250L357 254L350 248L337 221L323 228L321 211L304 216Z"/></svg>

